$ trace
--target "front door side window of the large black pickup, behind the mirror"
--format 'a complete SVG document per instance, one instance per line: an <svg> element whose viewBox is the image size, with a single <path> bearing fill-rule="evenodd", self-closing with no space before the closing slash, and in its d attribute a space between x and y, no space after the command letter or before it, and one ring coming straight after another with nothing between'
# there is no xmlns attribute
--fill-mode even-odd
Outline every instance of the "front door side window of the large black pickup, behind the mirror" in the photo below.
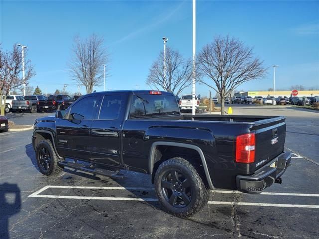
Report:
<svg viewBox="0 0 319 239"><path fill-rule="evenodd" d="M93 119L98 96L89 96L79 100L70 111L68 119Z"/></svg>

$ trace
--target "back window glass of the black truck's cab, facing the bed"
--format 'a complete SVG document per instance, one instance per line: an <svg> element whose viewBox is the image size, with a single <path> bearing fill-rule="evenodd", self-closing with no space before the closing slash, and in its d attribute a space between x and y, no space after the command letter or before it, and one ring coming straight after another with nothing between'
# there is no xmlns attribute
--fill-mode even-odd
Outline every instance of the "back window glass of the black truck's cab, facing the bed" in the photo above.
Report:
<svg viewBox="0 0 319 239"><path fill-rule="evenodd" d="M174 95L134 95L130 118L179 114Z"/></svg>

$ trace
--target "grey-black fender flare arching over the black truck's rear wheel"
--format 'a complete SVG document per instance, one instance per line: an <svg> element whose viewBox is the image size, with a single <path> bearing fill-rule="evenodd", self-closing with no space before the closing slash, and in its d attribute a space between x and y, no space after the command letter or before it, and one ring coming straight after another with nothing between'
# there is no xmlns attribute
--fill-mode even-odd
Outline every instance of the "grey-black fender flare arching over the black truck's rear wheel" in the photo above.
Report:
<svg viewBox="0 0 319 239"><path fill-rule="evenodd" d="M205 160L205 155L203 153L203 151L195 145L192 144L187 144L187 143L175 143L175 142L165 142L165 141L159 141L159 142L154 142L151 146L151 150L150 150L150 154L149 154L149 171L150 174L152 174L153 172L153 166L154 166L154 155L155 155L155 149L157 146L175 146L175 147L181 147L181 148L189 148L189 149L193 149L196 150L200 156L200 159L202 161L203 167L204 167L204 172L205 172L205 176L209 185L209 188L214 190L215 187L211 181L211 177L208 171L208 167L207 167L207 163Z"/></svg>

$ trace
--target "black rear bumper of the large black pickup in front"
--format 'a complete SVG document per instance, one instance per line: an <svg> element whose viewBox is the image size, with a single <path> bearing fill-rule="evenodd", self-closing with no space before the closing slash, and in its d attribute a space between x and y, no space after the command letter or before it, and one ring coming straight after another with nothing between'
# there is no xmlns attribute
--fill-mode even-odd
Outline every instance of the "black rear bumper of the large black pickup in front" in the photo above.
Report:
<svg viewBox="0 0 319 239"><path fill-rule="evenodd" d="M264 189L275 183L276 179L280 181L280 176L286 171L290 165L291 153L284 152L262 168L258 169L254 174L236 177L237 190L244 193L258 194ZM276 162L276 167L270 167Z"/></svg>

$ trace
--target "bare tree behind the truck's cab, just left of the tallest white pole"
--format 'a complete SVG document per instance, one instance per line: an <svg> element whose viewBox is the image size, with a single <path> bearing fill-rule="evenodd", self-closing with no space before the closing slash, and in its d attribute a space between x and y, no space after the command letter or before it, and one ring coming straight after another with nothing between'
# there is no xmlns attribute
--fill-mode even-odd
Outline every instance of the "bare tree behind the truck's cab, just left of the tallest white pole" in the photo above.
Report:
<svg viewBox="0 0 319 239"><path fill-rule="evenodd" d="M162 51L150 68L146 84L157 90L164 89L164 91L179 95L191 84L191 67L190 60L185 60L177 50L167 47L166 78L164 76L164 52Z"/></svg>

